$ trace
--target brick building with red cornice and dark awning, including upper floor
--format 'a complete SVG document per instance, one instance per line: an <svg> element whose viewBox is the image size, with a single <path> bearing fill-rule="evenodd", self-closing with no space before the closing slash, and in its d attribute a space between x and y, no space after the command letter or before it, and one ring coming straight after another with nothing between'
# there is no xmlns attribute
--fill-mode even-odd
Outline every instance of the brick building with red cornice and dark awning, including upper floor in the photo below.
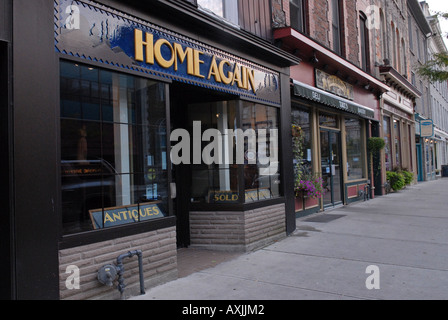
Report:
<svg viewBox="0 0 448 320"><path fill-rule="evenodd" d="M297 193L297 216L381 193L383 180L373 170L366 144L380 134L381 96L389 87L377 78L369 2L281 4L283 20L276 20L274 37L302 59L291 67L292 124L302 129L304 140L294 159L296 178L321 176L325 193L322 199Z"/></svg>

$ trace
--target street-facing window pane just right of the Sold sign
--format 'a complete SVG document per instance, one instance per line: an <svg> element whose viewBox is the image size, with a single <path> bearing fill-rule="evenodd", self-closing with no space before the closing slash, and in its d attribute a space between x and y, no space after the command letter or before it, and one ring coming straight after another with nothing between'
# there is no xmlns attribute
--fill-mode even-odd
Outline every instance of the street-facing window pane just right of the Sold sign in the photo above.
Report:
<svg viewBox="0 0 448 320"><path fill-rule="evenodd" d="M244 187L246 202L280 196L278 109L243 102L242 129L255 132L245 138ZM251 131L253 130L253 131ZM256 150L255 150L256 148ZM255 163L254 163L255 162Z"/></svg>

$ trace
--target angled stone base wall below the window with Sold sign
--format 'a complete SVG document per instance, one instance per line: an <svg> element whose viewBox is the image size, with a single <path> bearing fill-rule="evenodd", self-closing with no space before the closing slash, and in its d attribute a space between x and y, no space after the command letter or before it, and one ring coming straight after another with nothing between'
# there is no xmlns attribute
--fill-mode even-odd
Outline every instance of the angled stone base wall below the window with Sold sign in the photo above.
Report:
<svg viewBox="0 0 448 320"><path fill-rule="evenodd" d="M244 212L190 212L191 245L247 252L286 236L285 205Z"/></svg>

